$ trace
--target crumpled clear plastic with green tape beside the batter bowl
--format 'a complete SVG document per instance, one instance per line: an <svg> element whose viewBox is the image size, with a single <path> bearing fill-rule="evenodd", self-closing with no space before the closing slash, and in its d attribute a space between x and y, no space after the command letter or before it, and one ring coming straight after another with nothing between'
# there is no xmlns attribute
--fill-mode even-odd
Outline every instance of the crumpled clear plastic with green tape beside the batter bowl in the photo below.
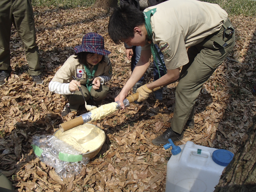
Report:
<svg viewBox="0 0 256 192"><path fill-rule="evenodd" d="M33 136L32 146L36 156L47 166L55 168L55 172L61 178L79 175L82 166L90 160L82 157L81 152L55 136Z"/></svg>

